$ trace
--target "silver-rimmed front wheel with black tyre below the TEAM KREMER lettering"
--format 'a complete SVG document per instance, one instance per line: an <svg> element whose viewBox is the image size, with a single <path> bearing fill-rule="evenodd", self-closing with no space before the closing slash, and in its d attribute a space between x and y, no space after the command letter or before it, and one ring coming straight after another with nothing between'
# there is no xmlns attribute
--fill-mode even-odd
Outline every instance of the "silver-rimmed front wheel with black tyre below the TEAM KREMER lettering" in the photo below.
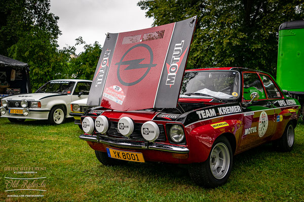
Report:
<svg viewBox="0 0 304 202"><path fill-rule="evenodd" d="M202 163L189 165L188 171L192 180L201 186L217 187L226 183L233 164L230 142L226 137L218 137L211 148L208 159Z"/></svg>

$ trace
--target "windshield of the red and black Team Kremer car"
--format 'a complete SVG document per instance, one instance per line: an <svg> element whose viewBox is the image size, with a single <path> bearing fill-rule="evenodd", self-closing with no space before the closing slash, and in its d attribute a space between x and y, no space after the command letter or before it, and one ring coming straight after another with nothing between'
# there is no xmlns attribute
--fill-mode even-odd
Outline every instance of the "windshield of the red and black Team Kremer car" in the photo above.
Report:
<svg viewBox="0 0 304 202"><path fill-rule="evenodd" d="M236 71L186 72L180 97L210 96L220 99L235 99L240 92L240 74Z"/></svg>

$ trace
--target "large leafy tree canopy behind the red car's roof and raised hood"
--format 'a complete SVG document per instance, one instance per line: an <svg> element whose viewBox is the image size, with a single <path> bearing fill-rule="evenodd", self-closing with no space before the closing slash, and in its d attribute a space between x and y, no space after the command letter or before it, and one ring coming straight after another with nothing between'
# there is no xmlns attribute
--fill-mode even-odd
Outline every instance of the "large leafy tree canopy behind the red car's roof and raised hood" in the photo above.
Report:
<svg viewBox="0 0 304 202"><path fill-rule="evenodd" d="M278 29L304 19L302 0L145 0L154 26L198 16L188 69L246 67L276 74Z"/></svg>

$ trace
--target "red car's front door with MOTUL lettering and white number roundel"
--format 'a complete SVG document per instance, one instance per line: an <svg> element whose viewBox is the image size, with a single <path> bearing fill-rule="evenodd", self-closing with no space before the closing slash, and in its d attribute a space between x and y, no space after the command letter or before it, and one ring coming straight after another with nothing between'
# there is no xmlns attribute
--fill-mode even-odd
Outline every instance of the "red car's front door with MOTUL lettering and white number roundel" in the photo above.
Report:
<svg viewBox="0 0 304 202"><path fill-rule="evenodd" d="M243 72L242 86L243 133L240 149L248 149L267 141L274 132L275 110L269 101L260 76L256 72ZM258 99L251 101L252 93L258 94Z"/></svg>

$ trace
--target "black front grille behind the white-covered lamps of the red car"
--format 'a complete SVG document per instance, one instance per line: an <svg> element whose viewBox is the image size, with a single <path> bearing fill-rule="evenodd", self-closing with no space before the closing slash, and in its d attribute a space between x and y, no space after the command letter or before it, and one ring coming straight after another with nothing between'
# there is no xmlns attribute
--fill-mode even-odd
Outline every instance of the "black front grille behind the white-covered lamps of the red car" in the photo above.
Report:
<svg viewBox="0 0 304 202"><path fill-rule="evenodd" d="M126 139L126 140L139 140L139 141L145 141L145 139L141 135L141 126L143 123L135 123L134 124L134 131L130 135L130 137L125 137L123 136L119 131L118 131L118 122L116 121L111 121L110 123L110 128L106 132L106 135L108 137L113 137L113 138L118 138L118 139ZM164 125L158 124L159 129L160 129L160 135L155 141L166 141L166 135L165 135L165 130L164 130Z"/></svg>

